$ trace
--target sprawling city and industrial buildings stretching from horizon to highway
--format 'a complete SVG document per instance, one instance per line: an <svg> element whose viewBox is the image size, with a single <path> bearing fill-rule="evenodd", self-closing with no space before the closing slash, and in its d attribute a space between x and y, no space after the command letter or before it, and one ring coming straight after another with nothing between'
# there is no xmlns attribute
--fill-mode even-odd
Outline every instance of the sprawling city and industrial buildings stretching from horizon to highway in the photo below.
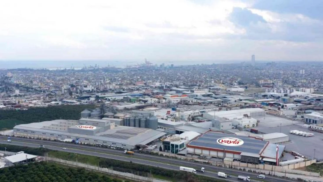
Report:
<svg viewBox="0 0 323 182"><path fill-rule="evenodd" d="M87 145L124 151L123 155L158 154L262 174L270 174L265 167L274 166L277 177L319 181L319 176L310 177L313 172L297 169L309 170L307 166L323 159L315 153L323 138L321 70L319 62L256 62L254 55L250 62L230 64L155 65L145 60L124 68L1 70L3 113L86 108L79 116L53 116L51 121L41 115L38 121L12 121L13 116L3 114L3 121L18 123L11 130L2 129L11 136L6 142L23 138L58 142L36 142L35 147L39 144L43 150L74 143L60 149L75 152ZM230 137L243 145L230 144L239 144ZM13 159L9 159L4 166L10 166ZM180 170L219 179L235 176L234 171L212 169L219 172L211 174L207 165L187 165ZM243 180L253 177L236 174Z"/></svg>

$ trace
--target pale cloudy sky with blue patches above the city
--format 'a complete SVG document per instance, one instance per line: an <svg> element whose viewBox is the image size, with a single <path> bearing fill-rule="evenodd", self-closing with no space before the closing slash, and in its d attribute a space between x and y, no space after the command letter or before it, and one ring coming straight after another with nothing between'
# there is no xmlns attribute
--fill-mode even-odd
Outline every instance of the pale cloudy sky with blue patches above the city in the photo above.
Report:
<svg viewBox="0 0 323 182"><path fill-rule="evenodd" d="M0 60L323 60L320 0L0 1Z"/></svg>

